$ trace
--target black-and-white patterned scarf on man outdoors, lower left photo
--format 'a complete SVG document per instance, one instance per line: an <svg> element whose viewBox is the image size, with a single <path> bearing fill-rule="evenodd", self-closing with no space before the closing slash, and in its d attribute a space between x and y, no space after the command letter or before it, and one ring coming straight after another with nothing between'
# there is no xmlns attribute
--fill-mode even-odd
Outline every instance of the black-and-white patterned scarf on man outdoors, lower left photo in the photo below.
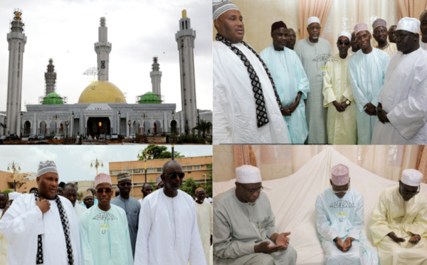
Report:
<svg viewBox="0 0 427 265"><path fill-rule="evenodd" d="M39 197L38 189L34 191L34 196L36 196L36 200ZM71 246L70 239L70 223L68 222L67 213L63 207L62 202L60 202L59 196L55 196L55 202L58 205L60 222L63 225L64 235L65 235L65 244L67 244L67 254L68 254L68 265L74 264L73 257L73 247ZM37 256L36 256L36 264L43 264L43 245L41 240L41 234L38 235L38 243L37 243Z"/></svg>

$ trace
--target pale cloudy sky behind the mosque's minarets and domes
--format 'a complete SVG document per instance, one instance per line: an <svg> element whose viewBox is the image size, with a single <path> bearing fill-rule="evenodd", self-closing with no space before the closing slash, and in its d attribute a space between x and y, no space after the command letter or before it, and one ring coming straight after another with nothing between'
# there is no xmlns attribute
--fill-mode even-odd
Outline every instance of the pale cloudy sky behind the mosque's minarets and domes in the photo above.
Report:
<svg viewBox="0 0 427 265"><path fill-rule="evenodd" d="M57 73L56 92L78 102L96 66L100 17L105 16L110 53L110 82L125 93L127 103L152 90L149 72L158 56L165 103L181 110L179 53L175 33L181 10L187 10L196 31L194 64L197 108L212 110L211 3L200 0L14 0L0 2L0 111L6 111L9 51L6 34L19 8L27 43L23 54L22 110L44 95L49 58Z"/></svg>

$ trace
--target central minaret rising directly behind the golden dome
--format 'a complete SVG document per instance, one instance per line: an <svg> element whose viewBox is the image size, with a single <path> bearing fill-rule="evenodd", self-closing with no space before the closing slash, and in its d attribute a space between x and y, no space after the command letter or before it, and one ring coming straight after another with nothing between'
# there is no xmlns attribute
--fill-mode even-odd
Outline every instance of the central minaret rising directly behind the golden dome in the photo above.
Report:
<svg viewBox="0 0 427 265"><path fill-rule="evenodd" d="M110 66L111 43L107 41L107 27L105 26L105 17L100 19L98 28L98 42L95 43L95 52L97 56L98 80L108 80L108 68Z"/></svg>

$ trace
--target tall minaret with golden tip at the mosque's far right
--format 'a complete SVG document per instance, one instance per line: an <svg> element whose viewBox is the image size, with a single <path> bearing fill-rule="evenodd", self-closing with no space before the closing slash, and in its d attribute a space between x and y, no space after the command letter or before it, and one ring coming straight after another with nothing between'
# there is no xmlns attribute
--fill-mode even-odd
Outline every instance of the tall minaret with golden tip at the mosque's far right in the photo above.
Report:
<svg viewBox="0 0 427 265"><path fill-rule="evenodd" d="M179 51L179 68L181 70L181 103L184 114L185 133L189 134L197 124L196 83L194 81L194 39L196 31L191 29L186 10L179 20L179 31L175 34Z"/></svg>

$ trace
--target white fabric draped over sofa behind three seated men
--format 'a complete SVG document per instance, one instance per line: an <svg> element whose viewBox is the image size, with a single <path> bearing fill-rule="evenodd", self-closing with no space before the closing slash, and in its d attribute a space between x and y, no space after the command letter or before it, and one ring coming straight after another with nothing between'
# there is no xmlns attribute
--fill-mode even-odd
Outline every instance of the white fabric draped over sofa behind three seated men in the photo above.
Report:
<svg viewBox="0 0 427 265"><path fill-rule="evenodd" d="M263 182L263 192L270 198L276 226L280 232L291 232L290 244L297 250L297 264L324 264L325 254L317 238L315 202L317 195L330 187L330 169L339 163L349 167L351 188L364 197L364 234L368 246L374 246L367 227L372 209L381 192L399 182L374 175L327 148L294 174ZM214 182L214 208L215 196L234 187L235 182L235 179ZM427 185L421 183L421 192L427 194Z"/></svg>

